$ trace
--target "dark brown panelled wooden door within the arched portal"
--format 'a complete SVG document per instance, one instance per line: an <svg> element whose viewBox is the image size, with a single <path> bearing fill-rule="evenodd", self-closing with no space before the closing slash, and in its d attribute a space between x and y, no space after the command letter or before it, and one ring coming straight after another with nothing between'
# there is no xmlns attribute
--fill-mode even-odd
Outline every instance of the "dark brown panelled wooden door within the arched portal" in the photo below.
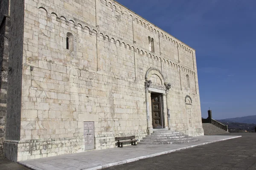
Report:
<svg viewBox="0 0 256 170"><path fill-rule="evenodd" d="M164 127L162 94L151 93L152 126L154 129Z"/></svg>

